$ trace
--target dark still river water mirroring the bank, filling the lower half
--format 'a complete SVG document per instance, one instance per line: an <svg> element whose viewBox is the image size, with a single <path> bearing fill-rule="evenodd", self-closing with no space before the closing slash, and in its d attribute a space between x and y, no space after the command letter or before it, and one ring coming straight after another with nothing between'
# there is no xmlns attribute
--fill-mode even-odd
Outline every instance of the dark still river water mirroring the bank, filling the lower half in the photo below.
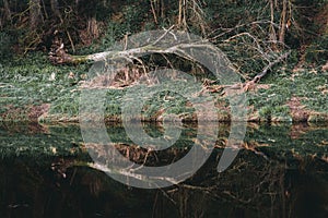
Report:
<svg viewBox="0 0 328 218"><path fill-rule="evenodd" d="M248 123L221 172L231 129L218 125L214 143L211 135L199 140L196 124L183 124L172 147L154 150L139 146L122 125L107 126L112 143L104 146L85 143L79 125L1 124L0 217L328 217L327 125ZM164 135L161 125L142 130ZM194 146L210 153L184 181L184 173L168 180L163 172L160 180L172 185L140 189L138 180L149 178L110 174L120 172L110 168L109 146L138 169L178 162Z"/></svg>

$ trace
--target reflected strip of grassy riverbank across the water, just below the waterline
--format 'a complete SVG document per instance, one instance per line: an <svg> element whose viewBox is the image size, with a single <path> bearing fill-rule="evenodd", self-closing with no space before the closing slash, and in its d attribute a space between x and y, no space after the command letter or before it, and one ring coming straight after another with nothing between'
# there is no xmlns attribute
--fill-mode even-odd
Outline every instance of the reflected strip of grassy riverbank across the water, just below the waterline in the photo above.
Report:
<svg viewBox="0 0 328 218"><path fill-rule="evenodd" d="M121 124L109 124L107 133L110 141L121 149L121 153L128 153L128 149L134 152L143 150L148 155L168 155L174 154L175 149L188 150L194 144L204 147L215 147L223 149L230 135L229 123L214 122L207 123L206 129L213 129L214 125L219 128L216 143L214 145L207 145L206 142L199 144L197 141L197 123L184 123L179 140L173 147L165 149L168 152L156 153L138 148L138 144L132 143ZM140 128L140 126L136 126ZM151 137L159 137L163 135L164 126L161 123L143 123L142 129ZM300 123L294 125L270 125L248 123L245 135L243 149L254 152L255 154L273 159L283 160L286 157L311 157L314 159L321 159L327 161L328 154L328 126L327 125L308 125ZM210 132L210 131L208 131ZM86 155L85 145L81 136L79 125L39 125L35 123L2 123L0 125L0 153L3 157L10 156L26 156L34 158L35 156L79 156ZM204 137L214 137L209 134ZM133 148L134 147L134 148ZM132 150L130 150L132 152ZM134 152L130 154L134 154ZM83 155L84 154L84 155ZM144 155L143 154L143 155ZM142 156L143 156L142 155ZM137 160L137 159L134 159Z"/></svg>

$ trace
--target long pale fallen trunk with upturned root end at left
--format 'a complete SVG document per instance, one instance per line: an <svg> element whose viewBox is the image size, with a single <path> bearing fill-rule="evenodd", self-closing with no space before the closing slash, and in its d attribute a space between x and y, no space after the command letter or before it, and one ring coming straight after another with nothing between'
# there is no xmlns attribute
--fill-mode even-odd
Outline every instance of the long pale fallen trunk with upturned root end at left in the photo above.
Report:
<svg viewBox="0 0 328 218"><path fill-rule="evenodd" d="M92 55L86 55L86 56L72 56L69 55L68 51L65 49L65 45L62 44L61 39L55 38L52 43L51 50L49 52L49 60L54 64L65 64L65 63L82 63L86 61L106 61L109 59L116 59L116 58L124 58L128 60L133 60L137 59L137 57L141 57L143 55L148 53L174 53L177 56L184 56L184 58L188 58L192 60L192 58L185 52L186 49L192 49L192 48L203 48L203 49L213 49L211 48L212 45L209 44L208 40L206 39L200 39L196 36L190 36L190 38L183 38L187 36L185 32L173 32L172 26L168 29L165 29L165 32L149 32L151 33L151 36L145 37L145 44L141 46L136 45L136 38L132 40L126 38L124 41L124 45L116 45L116 48L118 50L108 50L104 52L98 52L98 53L92 53ZM159 35L159 34L162 35ZM159 38L154 38L154 36L157 35ZM171 35L171 37L168 36ZM140 37L140 38L139 38ZM138 35L137 44L139 43L144 43L140 41L142 36ZM130 49L128 49L129 44L132 44Z"/></svg>

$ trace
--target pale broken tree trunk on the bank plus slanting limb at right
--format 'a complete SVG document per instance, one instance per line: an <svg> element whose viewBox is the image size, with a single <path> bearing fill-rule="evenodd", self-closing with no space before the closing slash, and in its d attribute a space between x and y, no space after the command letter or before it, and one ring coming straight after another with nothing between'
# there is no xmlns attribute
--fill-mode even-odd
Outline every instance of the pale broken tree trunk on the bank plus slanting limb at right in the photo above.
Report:
<svg viewBox="0 0 328 218"><path fill-rule="evenodd" d="M167 41L165 36L169 35L172 38ZM141 35L144 37L143 35ZM180 37L180 40L178 38ZM181 39L184 38L184 39ZM107 60L118 60L118 59L125 59L128 60L129 62L132 62L133 60L137 60L139 62L142 62L140 60L140 57L149 53L162 53L162 55L168 55L173 53L179 57L183 57L189 61L197 61L195 58L189 53L198 53L199 56L206 56L201 57L207 59L208 62L212 62L214 66L221 68L223 66L229 66L229 61L225 59L225 56L218 51L218 49L212 45L209 44L208 40L204 39L186 39L186 35L176 35L176 33L169 32L167 29L164 34L162 35L156 35L156 38L152 38L145 36L145 38L138 38L140 41L148 41L147 44L142 44L134 46L132 48L128 48L128 40L126 39L125 45L121 46L121 49L117 50L109 50L109 51L104 51L104 52L98 52L98 53L92 53L92 55L86 55L86 56L72 56L67 52L67 50L63 47L63 44L60 39L56 38L54 40L54 45L51 48L51 51L49 53L49 59L52 61L55 64L63 64L63 63L81 63L81 62L96 62L96 61L107 61ZM136 41L136 40L132 40ZM258 83L270 70L273 65L282 62L285 60L291 51L288 51L281 56L276 57L274 61L270 61L267 66L263 68L263 70L256 75L251 81L246 82L243 85L243 89L247 90L249 89L248 87L251 86L253 84ZM210 60L208 60L210 58ZM222 60L218 60L222 59ZM218 65L219 64L219 65ZM225 65L226 64L226 65ZM219 70L219 69L210 69L210 70ZM221 72L222 73L222 72ZM224 73L222 73L224 74ZM225 75L226 76L226 75ZM230 84L232 87L236 85L236 87L241 88L241 84Z"/></svg>

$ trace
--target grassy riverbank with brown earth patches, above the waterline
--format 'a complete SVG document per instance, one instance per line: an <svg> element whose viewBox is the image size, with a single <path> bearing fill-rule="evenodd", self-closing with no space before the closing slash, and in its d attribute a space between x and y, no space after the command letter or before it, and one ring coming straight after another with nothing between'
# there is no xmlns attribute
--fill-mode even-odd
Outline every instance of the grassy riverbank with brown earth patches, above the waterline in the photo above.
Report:
<svg viewBox="0 0 328 218"><path fill-rule="evenodd" d="M52 65L44 53L15 58L0 64L0 121L3 122L79 122L81 86L91 64ZM328 122L328 72L317 66L274 68L260 83L245 90L247 121ZM174 85L174 84L173 84ZM129 86L106 90L104 120L121 121L122 98ZM213 92L214 90L214 92ZM230 102L224 88L207 85L218 117L230 121ZM143 121L162 121L174 113L184 121L197 121L192 105L181 97L164 99L161 95L147 101ZM138 96L136 96L138 98Z"/></svg>

